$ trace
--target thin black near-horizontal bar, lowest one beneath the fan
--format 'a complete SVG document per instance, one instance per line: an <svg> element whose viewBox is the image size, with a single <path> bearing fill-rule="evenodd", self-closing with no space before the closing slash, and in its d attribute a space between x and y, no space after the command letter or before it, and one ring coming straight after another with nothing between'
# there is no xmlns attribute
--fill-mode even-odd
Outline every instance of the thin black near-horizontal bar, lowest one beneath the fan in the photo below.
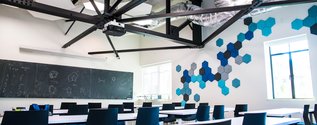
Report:
<svg viewBox="0 0 317 125"><path fill-rule="evenodd" d="M127 53L127 52L140 52L140 51L154 51L154 50L170 50L170 49L195 49L190 46L172 46L172 47L157 47L157 48L140 48L140 49L126 49L126 50L117 50L118 53ZM96 54L110 54L113 51L96 51L96 52L88 52L89 55Z"/></svg>

